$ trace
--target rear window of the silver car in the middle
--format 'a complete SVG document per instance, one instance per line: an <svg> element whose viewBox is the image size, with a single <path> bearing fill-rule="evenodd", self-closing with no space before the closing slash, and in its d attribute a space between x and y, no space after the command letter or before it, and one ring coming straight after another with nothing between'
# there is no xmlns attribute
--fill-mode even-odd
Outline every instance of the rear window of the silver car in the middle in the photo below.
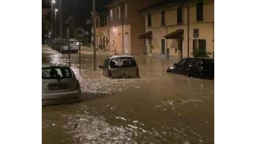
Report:
<svg viewBox="0 0 256 144"><path fill-rule="evenodd" d="M110 62L110 68L125 68L135 66L136 61L134 58L114 58Z"/></svg>

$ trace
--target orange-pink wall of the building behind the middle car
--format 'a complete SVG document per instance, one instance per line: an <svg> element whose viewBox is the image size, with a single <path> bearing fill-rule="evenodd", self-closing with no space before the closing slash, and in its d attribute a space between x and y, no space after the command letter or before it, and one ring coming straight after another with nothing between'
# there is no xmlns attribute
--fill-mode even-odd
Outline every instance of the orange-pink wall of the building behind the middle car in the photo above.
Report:
<svg viewBox="0 0 256 144"><path fill-rule="evenodd" d="M145 32L144 28L144 19L137 12L141 8L145 8L149 6L149 0L126 0L123 3L118 3L117 1L113 2L114 4L110 4L109 9L117 8L117 12L119 11L119 7L121 9L120 19L118 14L116 14L116 20L110 20L110 51L111 53L115 52L117 54L126 53L125 48L126 44L128 44L128 53L129 54L144 54L144 40L139 39L139 35ZM125 17L125 3L127 3L128 11L127 17ZM122 22L122 16L123 22ZM122 30L122 23L124 23L124 30ZM116 29L117 32L113 32L113 29ZM115 30L114 30L115 31ZM124 33L122 33L124 31ZM129 42L125 42L128 39ZM113 43L115 40L115 43ZM124 48L123 48L123 40L124 40Z"/></svg>

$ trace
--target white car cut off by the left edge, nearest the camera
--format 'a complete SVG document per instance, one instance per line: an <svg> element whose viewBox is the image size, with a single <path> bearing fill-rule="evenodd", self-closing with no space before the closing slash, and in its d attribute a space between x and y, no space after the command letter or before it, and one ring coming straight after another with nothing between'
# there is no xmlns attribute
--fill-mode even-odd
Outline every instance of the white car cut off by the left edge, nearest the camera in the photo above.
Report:
<svg viewBox="0 0 256 144"><path fill-rule="evenodd" d="M81 101L81 89L72 69L65 65L42 65L42 105Z"/></svg>

